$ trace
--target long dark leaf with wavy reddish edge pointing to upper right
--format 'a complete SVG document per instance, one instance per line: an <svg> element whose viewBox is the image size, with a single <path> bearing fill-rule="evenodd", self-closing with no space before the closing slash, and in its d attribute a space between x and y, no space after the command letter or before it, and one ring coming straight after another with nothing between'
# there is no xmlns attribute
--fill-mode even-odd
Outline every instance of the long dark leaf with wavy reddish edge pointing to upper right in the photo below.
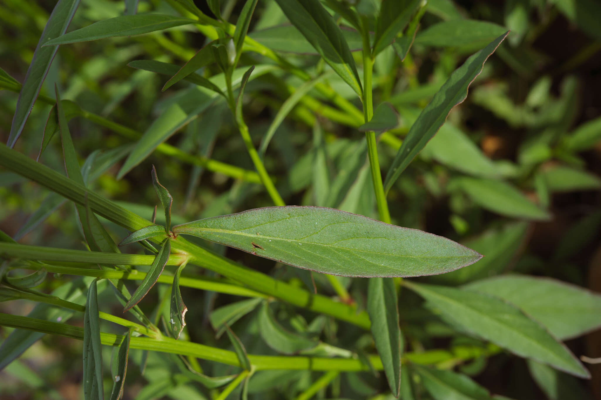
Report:
<svg viewBox="0 0 601 400"><path fill-rule="evenodd" d="M418 119L407 133L403 145L398 150L388 174L386 174L384 184L386 191L390 190L401 172L407 168L407 165L426 146L427 142L436 135L451 109L465 100L469 85L480 74L486 59L496 50L506 36L507 33L499 36L484 49L468 58L461 67L451 74L447 82L435 94L432 102L419 114Z"/></svg>

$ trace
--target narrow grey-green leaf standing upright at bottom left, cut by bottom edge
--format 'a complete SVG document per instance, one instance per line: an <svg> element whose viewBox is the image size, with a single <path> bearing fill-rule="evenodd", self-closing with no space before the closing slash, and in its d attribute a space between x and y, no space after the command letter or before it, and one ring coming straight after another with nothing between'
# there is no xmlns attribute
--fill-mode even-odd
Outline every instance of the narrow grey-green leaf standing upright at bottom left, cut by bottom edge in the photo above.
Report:
<svg viewBox="0 0 601 400"><path fill-rule="evenodd" d="M90 283L84 312L84 398L104 398L102 384L102 345L96 279Z"/></svg>

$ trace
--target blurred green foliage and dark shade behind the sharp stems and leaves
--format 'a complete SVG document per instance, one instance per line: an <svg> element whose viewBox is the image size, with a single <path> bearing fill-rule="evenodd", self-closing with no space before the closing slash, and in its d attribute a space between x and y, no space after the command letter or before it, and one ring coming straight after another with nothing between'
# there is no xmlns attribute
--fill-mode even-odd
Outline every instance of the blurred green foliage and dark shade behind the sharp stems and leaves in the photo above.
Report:
<svg viewBox="0 0 601 400"><path fill-rule="evenodd" d="M70 30L121 15L126 3L135 2L83 0ZM195 3L212 15L204 1ZM4 0L0 4L0 66L19 82L25 77L54 4L46 0ZM222 1L222 16L236 21L242 5L235 0ZM138 12L143 11L177 15L169 2L159 0L140 1ZM393 130L395 135L406 134L420 109L450 73L489 41L475 40L457 47L453 41L448 43L441 40L441 35L433 34L436 32L431 27L456 19L466 20L465 35L477 29L491 29L491 38L498 35L495 31L498 26L493 29L470 25L470 20L493 22L511 29L511 33L484 65L467 100L453 109L447 123L392 187L388 200L393 223L443 235L486 256L470 267L424 278L428 282L460 285L504 271L516 271L554 277L601 291L601 4L595 0L430 0L406 59L401 62L391 47L376 59L374 99L376 104L388 101L397 109L400 124ZM282 54L294 65L311 73L323 70L325 65L318 62L316 55L289 53L286 46L278 49L282 33L273 26L285 22L275 2L262 0L249 35L268 47L284 50ZM501 29L501 33L504 30ZM448 37L452 38L453 33L449 32ZM349 35L353 49L353 37ZM205 43L202 34L183 27L61 46L41 94L53 98L56 84L61 97L72 100L81 109L145 132L189 83L182 81L161 92L167 77L136 70L127 64L136 59L154 59L183 65ZM360 56L356 59L359 61ZM243 54L241 62L249 65L269 63L269 60L248 52ZM203 70L205 76L217 72L215 65ZM327 80L338 94L361 107L352 90L338 77L331 75ZM260 143L288 97L288 85L301 84L301 80L282 71L264 74L249 83L245 91L245 119L255 145ZM310 94L333 107L319 92L313 90ZM16 92L0 91L2 141L8 138L16 100ZM50 108L38 100L17 144L19 151L37 156ZM365 140L356 130L359 125L356 119L354 121L349 117L345 121L344 116L334 121L303 104L291 111L276 130L264 159L267 171L275 177L287 204L325 202L331 207L377 219L371 177L368 167L364 166ZM323 127L323 143L314 140L316 123ZM135 138L115 133L86 118L74 118L70 129L81 161L87 160L93 169L102 172L94 175L88 186L142 216L150 218L157 204L151 186L151 165L156 166L161 182L174 196L174 223L272 205L258 184L206 171L181 157L159 151L118 180L120 164ZM233 118L222 101L210 105L166 143L187 154L254 170ZM380 142L383 170L394 158L397 147L394 141ZM327 154L326 171L334 177L331 187L336 189L327 199L320 199L325 189L319 186L313 171L319 167L316 154L322 148ZM49 143L41 162L63 171L59 141ZM0 204L0 229L20 243L84 248L75 209L40 186L11 172L0 171ZM160 221L160 215L157 220ZM127 234L116 225L108 223L107 226L116 239ZM274 266L234 249L217 246L215 249L278 279L313 288L306 271L281 264ZM341 278L340 282L349 288L359 305L365 302L362 298L364 280ZM51 291L60 283L61 278L55 276L44 282L43 289ZM331 286L320 276L316 276L316 285L319 292L334 295ZM164 311L168 291L165 286L159 286L140 306L149 314L160 314ZM227 339L215 338L209 314L240 299L188 288L182 288L182 295L190 310L187 315L190 339L228 347ZM85 297L79 300L83 302ZM102 305L102 301L100 303ZM474 340L457 335L424 308L403 312L404 305L416 303L414 295L404 292L400 303L401 327L415 341L414 345L439 348ZM31 303L25 301L0 305L3 312L20 315L31 307ZM308 317L304 312L282 303L276 316L282 321L289 320L293 327L294 324L300 324L303 329L307 326L305 318ZM82 324L81 318L73 321ZM342 323L331 318L314 321L314 324L320 324L319 329L323 329L333 344L353 343L365 335L356 327L341 329ZM112 332L111 327L106 329ZM243 317L235 330L249 353L273 353L261 341L252 313ZM0 329L2 336L9 332L9 329ZM569 340L567 345L576 354L601 354L599 332ZM80 347L79 342L44 336L25 357L0 372L0 395L3 399L80 398ZM111 349L104 348L104 351L105 362L109 363ZM142 353L132 351L132 357L132 365L140 366ZM210 375L231 372L227 366L215 363L203 363L203 368ZM590 366L593 379L586 382L542 365L528 365L506 354L478 359L460 369L493 393L515 399L601 398L601 366L598 365ZM144 375L141 368L130 368L127 381L125 398L201 399L206 396L178 369L177 360L166 354L150 353ZM308 371L260 372L251 380L249 393L257 399L294 398L310 383L311 372ZM374 388L380 387L385 387L381 376L349 373L337 378L331 394L332 397L370 398L377 393ZM256 394L265 391L270 394ZM422 399L428 398L426 393L422 395Z"/></svg>

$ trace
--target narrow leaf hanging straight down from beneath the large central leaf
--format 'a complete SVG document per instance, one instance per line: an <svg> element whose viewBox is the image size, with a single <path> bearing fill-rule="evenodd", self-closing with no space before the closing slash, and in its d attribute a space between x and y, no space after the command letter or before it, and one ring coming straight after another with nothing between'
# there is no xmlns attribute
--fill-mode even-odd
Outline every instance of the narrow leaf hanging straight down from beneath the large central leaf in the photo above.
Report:
<svg viewBox="0 0 601 400"><path fill-rule="evenodd" d="M392 278L373 277L367 288L367 312L371 335L382 359L390 390L398 397L401 383L403 336L398 326L397 289Z"/></svg>

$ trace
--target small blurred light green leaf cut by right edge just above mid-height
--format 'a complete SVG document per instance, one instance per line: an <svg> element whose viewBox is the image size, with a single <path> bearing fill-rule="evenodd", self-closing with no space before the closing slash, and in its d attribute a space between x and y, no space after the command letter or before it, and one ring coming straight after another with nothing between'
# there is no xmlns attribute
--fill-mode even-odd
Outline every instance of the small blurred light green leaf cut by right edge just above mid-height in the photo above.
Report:
<svg viewBox="0 0 601 400"><path fill-rule="evenodd" d="M581 169L564 165L543 168L539 172L551 192L575 192L601 188L601 178Z"/></svg>

